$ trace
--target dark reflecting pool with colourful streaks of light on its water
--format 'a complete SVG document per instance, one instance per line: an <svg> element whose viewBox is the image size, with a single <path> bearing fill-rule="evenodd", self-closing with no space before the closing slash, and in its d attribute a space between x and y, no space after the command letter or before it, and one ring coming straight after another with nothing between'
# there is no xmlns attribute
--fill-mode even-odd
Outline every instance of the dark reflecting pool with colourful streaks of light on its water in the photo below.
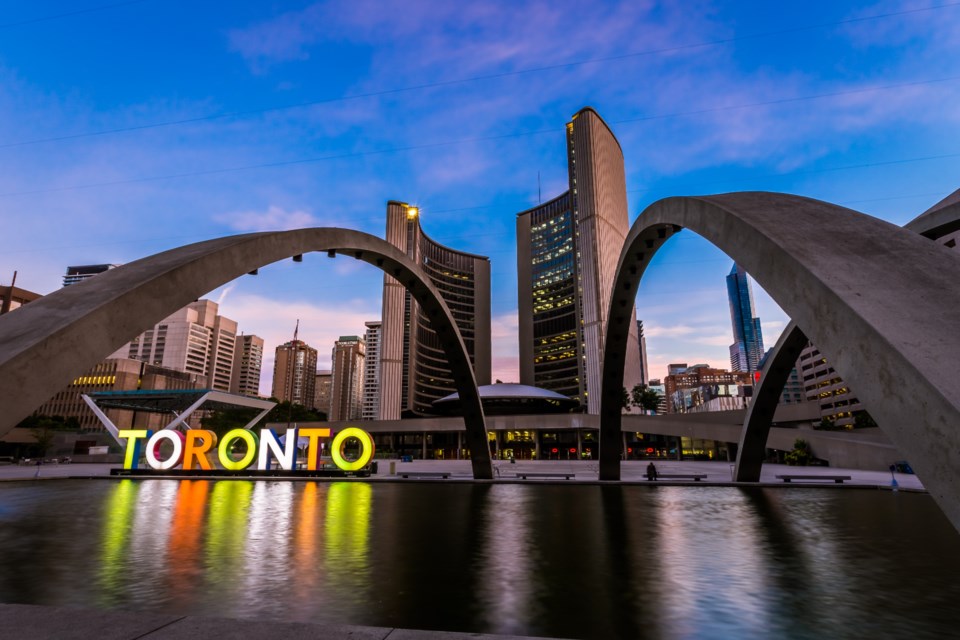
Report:
<svg viewBox="0 0 960 640"><path fill-rule="evenodd" d="M0 601L572 638L946 637L923 494L91 480L0 485Z"/></svg>

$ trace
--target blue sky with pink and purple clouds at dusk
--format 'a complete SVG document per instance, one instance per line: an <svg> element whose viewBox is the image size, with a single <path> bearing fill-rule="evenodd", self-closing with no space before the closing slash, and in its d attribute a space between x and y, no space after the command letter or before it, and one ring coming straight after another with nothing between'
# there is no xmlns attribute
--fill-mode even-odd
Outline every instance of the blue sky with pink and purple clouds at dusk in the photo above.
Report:
<svg viewBox="0 0 960 640"><path fill-rule="evenodd" d="M229 10L226 10L229 7ZM515 216L566 189L591 105L631 222L667 196L768 190L903 224L960 186L960 2L7 1L0 283L49 293L239 232L383 235L387 200L490 256L494 377L517 379ZM824 233L829 233L825 229ZM651 374L728 366L731 261L685 231L637 298ZM272 349L379 318L381 274L326 256L209 296ZM755 288L767 346L787 319ZM261 389L269 393L269 383Z"/></svg>

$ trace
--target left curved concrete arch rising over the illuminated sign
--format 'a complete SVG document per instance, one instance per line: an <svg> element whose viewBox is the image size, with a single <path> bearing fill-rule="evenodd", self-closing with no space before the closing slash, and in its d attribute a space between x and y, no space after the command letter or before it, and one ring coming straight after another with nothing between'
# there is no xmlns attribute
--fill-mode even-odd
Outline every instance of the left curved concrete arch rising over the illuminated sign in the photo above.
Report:
<svg viewBox="0 0 960 640"><path fill-rule="evenodd" d="M0 435L77 375L177 309L245 273L312 251L337 252L396 278L444 338L463 400L475 478L492 479L483 408L463 339L439 292L386 241L337 228L251 233L131 262L0 318Z"/></svg>

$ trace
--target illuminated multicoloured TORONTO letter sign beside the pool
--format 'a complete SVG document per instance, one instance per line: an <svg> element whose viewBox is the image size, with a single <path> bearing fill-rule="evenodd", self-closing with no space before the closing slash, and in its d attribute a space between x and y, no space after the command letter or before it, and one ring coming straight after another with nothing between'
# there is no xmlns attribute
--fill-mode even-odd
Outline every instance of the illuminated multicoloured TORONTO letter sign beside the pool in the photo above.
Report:
<svg viewBox="0 0 960 640"><path fill-rule="evenodd" d="M213 469L212 456L217 456L220 466L228 471L243 471L249 469L254 462L258 470L269 470L275 460L280 469L293 471L297 468L297 444L306 441L306 469L316 471L320 460L322 438L329 438L330 429L300 428L288 429L286 436L281 438L272 429L261 429L257 435L247 429L228 431L217 446L217 434L207 429L191 429L186 433L164 429L153 432L147 429L121 429L119 437L127 441L126 454L123 458L124 469L137 469L140 464L141 453L144 454L147 465L151 469L168 470L182 465L184 470ZM344 455L347 443L356 439L360 444L360 455L355 460L348 460ZM237 442L246 445L246 452L239 460L234 459L233 448ZM166 444L169 451L166 455L161 452L161 446ZM146 451L143 450L146 447ZM357 471L367 466L373 459L374 446L370 434L357 427L347 427L333 438L330 445L330 455L333 463L343 471Z"/></svg>

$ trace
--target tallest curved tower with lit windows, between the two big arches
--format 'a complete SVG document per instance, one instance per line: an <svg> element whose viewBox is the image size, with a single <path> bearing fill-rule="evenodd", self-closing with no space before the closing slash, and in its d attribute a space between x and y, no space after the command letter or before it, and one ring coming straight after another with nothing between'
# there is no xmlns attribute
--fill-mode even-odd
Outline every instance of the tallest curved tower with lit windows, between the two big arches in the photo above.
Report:
<svg viewBox="0 0 960 640"><path fill-rule="evenodd" d="M623 152L586 108L567 123L569 190L517 215L520 382L600 412L604 331L630 231ZM631 310L623 386L641 382Z"/></svg>

